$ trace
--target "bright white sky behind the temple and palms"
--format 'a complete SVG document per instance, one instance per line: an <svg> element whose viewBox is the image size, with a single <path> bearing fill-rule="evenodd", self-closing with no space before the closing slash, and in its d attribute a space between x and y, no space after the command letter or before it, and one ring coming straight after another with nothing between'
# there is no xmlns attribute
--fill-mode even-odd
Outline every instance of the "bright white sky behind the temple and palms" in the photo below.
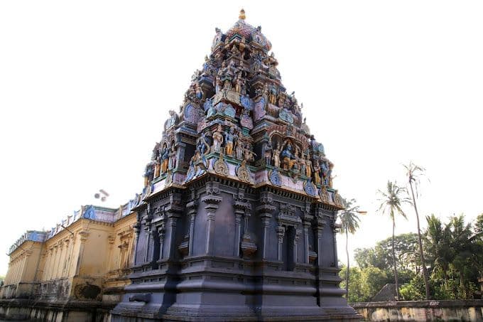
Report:
<svg viewBox="0 0 483 322"><path fill-rule="evenodd" d="M142 186L215 27L241 7L273 44L288 92L369 213L351 248L391 235L378 189L427 168L420 213L483 212L482 1L0 1L0 249L100 188ZM397 232L416 230L398 220ZM340 240L340 259L344 259ZM0 274L8 257L0 255Z"/></svg>

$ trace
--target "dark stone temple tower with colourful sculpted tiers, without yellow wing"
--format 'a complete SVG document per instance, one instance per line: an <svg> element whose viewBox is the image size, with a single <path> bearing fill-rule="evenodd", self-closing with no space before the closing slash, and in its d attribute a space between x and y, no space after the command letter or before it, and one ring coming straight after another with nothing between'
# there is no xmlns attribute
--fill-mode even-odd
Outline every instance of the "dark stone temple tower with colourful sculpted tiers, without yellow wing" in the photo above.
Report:
<svg viewBox="0 0 483 322"><path fill-rule="evenodd" d="M153 147L112 321L359 321L339 287L332 168L242 10Z"/></svg>

